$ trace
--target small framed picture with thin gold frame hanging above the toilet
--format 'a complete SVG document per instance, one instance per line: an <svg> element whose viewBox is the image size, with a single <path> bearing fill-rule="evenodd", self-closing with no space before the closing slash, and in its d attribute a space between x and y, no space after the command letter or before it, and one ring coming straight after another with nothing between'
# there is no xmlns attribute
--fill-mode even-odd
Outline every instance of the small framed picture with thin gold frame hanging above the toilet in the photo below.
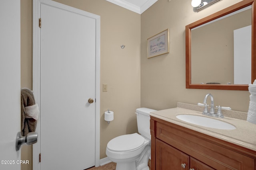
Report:
<svg viewBox="0 0 256 170"><path fill-rule="evenodd" d="M148 59L169 53L169 29L166 29L147 41Z"/></svg>

